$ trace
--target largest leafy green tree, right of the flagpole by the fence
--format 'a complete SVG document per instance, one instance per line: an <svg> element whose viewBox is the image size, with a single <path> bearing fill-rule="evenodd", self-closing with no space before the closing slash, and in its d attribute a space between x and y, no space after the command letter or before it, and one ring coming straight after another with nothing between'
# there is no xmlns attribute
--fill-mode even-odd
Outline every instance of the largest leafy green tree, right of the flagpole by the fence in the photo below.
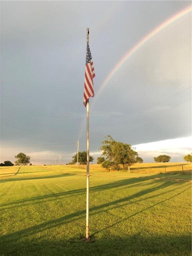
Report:
<svg viewBox="0 0 192 256"><path fill-rule="evenodd" d="M102 166L114 170L120 170L121 168L127 170L130 165L136 163L136 157L138 157L135 148L130 144L117 142L110 135L102 141L99 151L106 157Z"/></svg>

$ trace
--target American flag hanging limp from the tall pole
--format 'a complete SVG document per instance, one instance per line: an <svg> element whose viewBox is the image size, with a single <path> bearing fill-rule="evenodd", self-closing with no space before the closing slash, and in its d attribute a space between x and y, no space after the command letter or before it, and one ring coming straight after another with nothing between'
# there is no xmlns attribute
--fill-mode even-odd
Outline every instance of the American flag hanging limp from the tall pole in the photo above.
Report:
<svg viewBox="0 0 192 256"><path fill-rule="evenodd" d="M84 97L83 104L87 105L87 100L94 96L93 91L93 78L95 77L95 71L93 67L93 60L90 52L89 45L87 43L86 52L86 65L85 65L85 82L84 82Z"/></svg>

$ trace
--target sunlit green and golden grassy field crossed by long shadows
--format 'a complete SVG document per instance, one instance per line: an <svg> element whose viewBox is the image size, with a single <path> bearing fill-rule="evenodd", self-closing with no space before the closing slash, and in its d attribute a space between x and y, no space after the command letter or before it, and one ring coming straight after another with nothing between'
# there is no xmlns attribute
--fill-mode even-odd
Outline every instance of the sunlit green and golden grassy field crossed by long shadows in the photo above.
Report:
<svg viewBox="0 0 192 256"><path fill-rule="evenodd" d="M83 241L86 170L1 167L14 176L0 182L0 255L191 255L191 165L185 175L181 163L172 163L169 174L153 166L132 173L91 167L92 242Z"/></svg>

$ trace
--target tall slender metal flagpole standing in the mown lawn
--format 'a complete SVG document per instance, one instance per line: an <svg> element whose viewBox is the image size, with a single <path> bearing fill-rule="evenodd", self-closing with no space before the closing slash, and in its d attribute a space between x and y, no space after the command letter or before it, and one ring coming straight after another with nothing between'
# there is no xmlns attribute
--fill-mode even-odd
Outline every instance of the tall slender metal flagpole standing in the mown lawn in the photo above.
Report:
<svg viewBox="0 0 192 256"><path fill-rule="evenodd" d="M89 44L89 28L87 28ZM87 200L86 200L86 239L89 238L89 99L87 100Z"/></svg>

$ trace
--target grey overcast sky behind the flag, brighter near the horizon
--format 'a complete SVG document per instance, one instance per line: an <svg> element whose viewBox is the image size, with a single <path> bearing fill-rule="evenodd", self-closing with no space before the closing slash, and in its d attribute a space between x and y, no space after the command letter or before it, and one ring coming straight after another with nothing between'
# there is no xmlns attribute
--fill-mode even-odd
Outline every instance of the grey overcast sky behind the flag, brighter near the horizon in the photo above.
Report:
<svg viewBox="0 0 192 256"><path fill-rule="evenodd" d="M100 94L99 89L131 48L190 5L1 1L1 162L14 162L23 152L33 164L58 162L59 154L67 163L77 140L80 151L86 150L86 27L96 74L90 152L97 158L104 136L111 135L131 145L145 144L138 147L145 162L165 152L172 161L182 161L183 154L191 153L191 13L139 47ZM177 143L169 146L170 139ZM164 147L157 141L164 141ZM151 142L156 142L154 153L154 144L146 144Z"/></svg>

